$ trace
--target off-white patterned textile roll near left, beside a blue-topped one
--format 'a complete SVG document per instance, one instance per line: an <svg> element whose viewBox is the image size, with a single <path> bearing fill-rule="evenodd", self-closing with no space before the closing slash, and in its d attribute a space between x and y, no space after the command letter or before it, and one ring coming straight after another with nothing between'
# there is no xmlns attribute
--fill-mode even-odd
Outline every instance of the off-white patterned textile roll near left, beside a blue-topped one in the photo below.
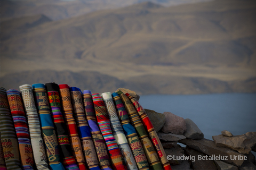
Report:
<svg viewBox="0 0 256 170"><path fill-rule="evenodd" d="M38 170L49 169L46 162L45 147L41 136L40 122L36 111L32 86L24 84L20 86L20 91L28 119L29 134L36 167Z"/></svg>

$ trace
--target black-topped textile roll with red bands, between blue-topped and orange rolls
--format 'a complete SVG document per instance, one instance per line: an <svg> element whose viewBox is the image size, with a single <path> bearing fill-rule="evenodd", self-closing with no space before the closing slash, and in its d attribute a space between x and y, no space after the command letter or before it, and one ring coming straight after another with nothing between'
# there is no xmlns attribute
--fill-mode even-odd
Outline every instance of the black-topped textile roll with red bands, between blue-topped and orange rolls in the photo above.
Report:
<svg viewBox="0 0 256 170"><path fill-rule="evenodd" d="M49 104L51 106L51 115L54 120L55 130L58 136L58 143L60 146L60 155L63 157L63 165L66 169L76 169L79 170L76 160L72 154L70 142L68 138L68 132L66 124L63 120L62 113L60 111L60 96L59 96L59 86L55 83L46 83L46 91L48 94Z"/></svg>

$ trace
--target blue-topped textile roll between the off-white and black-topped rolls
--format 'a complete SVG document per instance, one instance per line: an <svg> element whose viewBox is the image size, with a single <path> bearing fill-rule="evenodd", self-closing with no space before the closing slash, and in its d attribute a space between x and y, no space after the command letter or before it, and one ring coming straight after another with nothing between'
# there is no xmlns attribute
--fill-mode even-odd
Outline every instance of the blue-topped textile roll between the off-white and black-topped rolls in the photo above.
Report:
<svg viewBox="0 0 256 170"><path fill-rule="evenodd" d="M59 146L52 122L45 86L44 84L37 83L33 84L32 87L50 169L65 170L60 163Z"/></svg>

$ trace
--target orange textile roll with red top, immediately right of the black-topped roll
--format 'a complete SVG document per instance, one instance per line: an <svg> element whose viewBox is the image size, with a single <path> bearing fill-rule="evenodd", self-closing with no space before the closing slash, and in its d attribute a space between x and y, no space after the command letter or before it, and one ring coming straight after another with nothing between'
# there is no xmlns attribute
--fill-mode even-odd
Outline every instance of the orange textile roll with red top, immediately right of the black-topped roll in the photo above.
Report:
<svg viewBox="0 0 256 170"><path fill-rule="evenodd" d="M77 132L76 121L73 117L73 108L68 84L60 84L59 88L62 113L68 128L71 149L73 155L75 156L76 162L78 163L79 169L86 169L82 145Z"/></svg>

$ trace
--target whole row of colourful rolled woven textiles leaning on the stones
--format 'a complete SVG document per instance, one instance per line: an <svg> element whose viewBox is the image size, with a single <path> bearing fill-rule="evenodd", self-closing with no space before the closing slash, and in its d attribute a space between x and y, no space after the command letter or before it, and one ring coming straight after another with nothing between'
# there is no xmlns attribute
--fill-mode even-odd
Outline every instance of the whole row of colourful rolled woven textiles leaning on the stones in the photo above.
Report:
<svg viewBox="0 0 256 170"><path fill-rule="evenodd" d="M0 169L171 169L147 113L122 91L0 88Z"/></svg>

